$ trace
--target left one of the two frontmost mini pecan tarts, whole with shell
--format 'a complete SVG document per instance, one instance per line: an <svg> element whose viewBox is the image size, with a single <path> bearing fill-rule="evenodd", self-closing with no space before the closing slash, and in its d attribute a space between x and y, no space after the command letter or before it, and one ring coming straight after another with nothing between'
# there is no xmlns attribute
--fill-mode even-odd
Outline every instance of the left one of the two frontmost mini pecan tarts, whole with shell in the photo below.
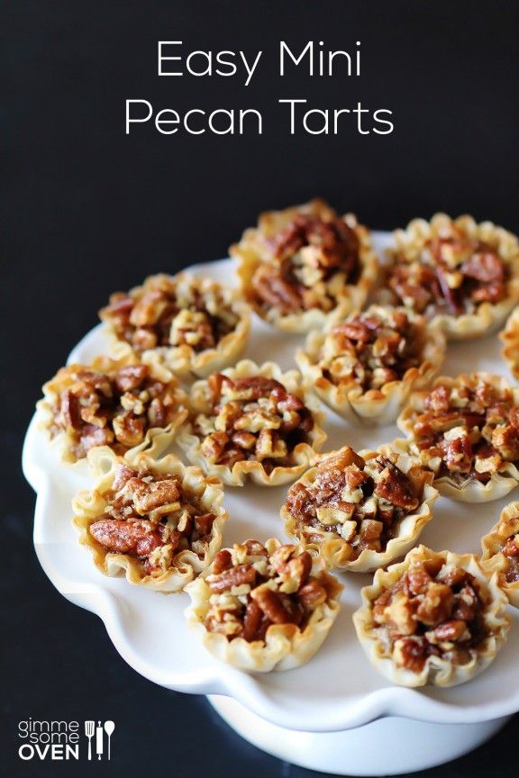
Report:
<svg viewBox="0 0 519 778"><path fill-rule="evenodd" d="M342 586L306 551L270 538L223 548L186 591L188 624L209 653L268 673L314 656L339 613Z"/></svg>

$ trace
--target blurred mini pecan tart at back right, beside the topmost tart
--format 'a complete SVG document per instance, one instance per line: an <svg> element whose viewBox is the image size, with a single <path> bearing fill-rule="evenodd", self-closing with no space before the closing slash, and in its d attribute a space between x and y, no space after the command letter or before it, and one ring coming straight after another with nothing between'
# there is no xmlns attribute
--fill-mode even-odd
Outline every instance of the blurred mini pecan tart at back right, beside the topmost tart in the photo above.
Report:
<svg viewBox="0 0 519 778"><path fill-rule="evenodd" d="M436 320L449 338L500 326L519 299L519 243L492 222L436 213L394 232L384 302Z"/></svg>

